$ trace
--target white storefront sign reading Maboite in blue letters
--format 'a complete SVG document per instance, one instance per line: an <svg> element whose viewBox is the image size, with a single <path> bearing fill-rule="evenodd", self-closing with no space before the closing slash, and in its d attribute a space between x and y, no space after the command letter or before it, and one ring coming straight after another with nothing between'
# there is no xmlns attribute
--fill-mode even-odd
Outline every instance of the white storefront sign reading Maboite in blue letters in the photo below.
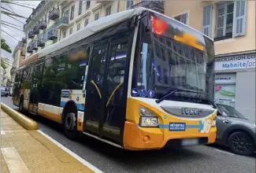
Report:
<svg viewBox="0 0 256 173"><path fill-rule="evenodd" d="M217 57L215 60L215 70L255 68L255 57L255 53Z"/></svg>

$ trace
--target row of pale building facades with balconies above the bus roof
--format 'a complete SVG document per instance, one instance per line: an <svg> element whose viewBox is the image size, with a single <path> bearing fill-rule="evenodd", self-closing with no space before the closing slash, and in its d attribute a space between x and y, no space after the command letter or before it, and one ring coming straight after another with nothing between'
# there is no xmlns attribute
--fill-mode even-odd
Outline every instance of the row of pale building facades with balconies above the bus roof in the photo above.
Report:
<svg viewBox="0 0 256 173"><path fill-rule="evenodd" d="M24 24L25 60L91 21L139 6L164 13L163 1L42 1Z"/></svg>

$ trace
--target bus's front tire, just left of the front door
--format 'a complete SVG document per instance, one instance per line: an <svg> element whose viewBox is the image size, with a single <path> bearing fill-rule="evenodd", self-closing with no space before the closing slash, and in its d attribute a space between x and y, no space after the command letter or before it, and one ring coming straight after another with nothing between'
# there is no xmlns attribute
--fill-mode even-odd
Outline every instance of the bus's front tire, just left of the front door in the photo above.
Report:
<svg viewBox="0 0 256 173"><path fill-rule="evenodd" d="M65 114L65 118L64 118L64 134L67 138L73 140L75 138L77 138L78 136L78 131L77 131L77 127L76 127L76 123L77 123L77 118L76 118L76 113L74 112L67 112Z"/></svg>

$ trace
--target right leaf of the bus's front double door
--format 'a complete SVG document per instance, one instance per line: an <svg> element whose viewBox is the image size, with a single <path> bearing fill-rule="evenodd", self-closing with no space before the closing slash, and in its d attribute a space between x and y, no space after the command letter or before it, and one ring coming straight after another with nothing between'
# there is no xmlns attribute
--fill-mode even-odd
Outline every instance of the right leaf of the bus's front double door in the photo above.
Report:
<svg viewBox="0 0 256 173"><path fill-rule="evenodd" d="M124 127L125 106L127 100L128 79L124 77L128 70L128 43L129 36L123 35L110 42L109 57L106 70L106 101L102 114L102 135L114 141L121 142L121 133ZM127 75L128 76L128 75Z"/></svg>

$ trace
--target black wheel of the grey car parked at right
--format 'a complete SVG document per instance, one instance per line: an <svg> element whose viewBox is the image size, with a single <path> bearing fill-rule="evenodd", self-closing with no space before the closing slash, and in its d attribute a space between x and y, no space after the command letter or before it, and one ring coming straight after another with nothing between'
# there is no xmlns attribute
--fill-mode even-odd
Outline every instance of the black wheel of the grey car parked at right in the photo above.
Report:
<svg viewBox="0 0 256 173"><path fill-rule="evenodd" d="M228 138L228 146L233 153L249 156L254 153L253 139L243 131L231 134Z"/></svg>

